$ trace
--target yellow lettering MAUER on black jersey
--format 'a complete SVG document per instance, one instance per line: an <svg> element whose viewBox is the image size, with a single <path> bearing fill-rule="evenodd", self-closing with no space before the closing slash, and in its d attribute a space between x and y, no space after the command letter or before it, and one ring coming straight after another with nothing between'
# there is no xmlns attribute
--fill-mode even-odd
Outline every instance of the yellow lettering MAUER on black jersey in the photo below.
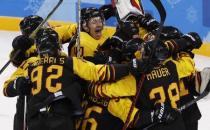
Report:
<svg viewBox="0 0 210 130"><path fill-rule="evenodd" d="M149 74L146 75L146 77L147 77L147 80L154 80L154 79L166 77L169 75L170 73L168 71L168 68L164 67L164 68L158 68L151 71Z"/></svg>

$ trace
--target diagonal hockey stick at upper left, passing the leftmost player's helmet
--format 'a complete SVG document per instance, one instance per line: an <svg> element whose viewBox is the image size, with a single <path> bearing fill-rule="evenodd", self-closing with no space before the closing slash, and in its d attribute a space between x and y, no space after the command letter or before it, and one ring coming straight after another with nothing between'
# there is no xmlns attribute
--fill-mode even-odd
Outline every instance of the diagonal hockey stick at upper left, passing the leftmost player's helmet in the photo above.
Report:
<svg viewBox="0 0 210 130"><path fill-rule="evenodd" d="M58 3L55 5L55 7L50 11L50 13L47 15L47 17L40 23L40 25L29 35L29 38L34 39L36 36L36 33L39 31L39 29L47 22L47 20L53 15L53 13L57 10L57 8L61 5L63 0L59 0ZM14 56L7 61L7 63L1 68L0 74L7 68L7 66L11 63L12 60L17 58L17 55L21 52L21 50L17 50Z"/></svg>

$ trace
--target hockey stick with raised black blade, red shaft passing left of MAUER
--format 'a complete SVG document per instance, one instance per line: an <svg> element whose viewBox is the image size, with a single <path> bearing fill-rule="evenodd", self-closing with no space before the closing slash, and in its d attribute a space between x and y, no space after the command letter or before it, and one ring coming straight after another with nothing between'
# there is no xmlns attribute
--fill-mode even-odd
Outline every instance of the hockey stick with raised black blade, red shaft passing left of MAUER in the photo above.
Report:
<svg viewBox="0 0 210 130"><path fill-rule="evenodd" d="M157 45L158 43L158 40L159 40L159 37L160 37L160 34L162 32L162 29L163 29L163 24L165 22L165 19L166 19L166 11L165 11L165 8L163 7L162 3L160 0L151 0L152 3L154 4L154 6L157 8L159 14L160 14L160 25L159 25L159 29L155 35L155 40L154 40L154 48L155 49L155 46ZM152 51L152 54L151 56L153 55L154 53L154 50ZM150 57L151 57L150 56ZM145 79L145 74L142 74L140 80L139 80L139 83L138 83L138 86L137 86L137 92L136 92L136 95L134 96L134 99L133 99L133 102L132 102L132 105L131 105L131 108L129 110L129 113L128 113L128 116L127 116L127 119L125 121L125 124L122 128L122 130L126 130L128 125L129 125L129 121L130 121L130 118L131 118L131 113L135 107L135 104L136 104L136 101L137 101L137 98L140 94L140 91L141 91L141 88L142 88L142 85L143 85L143 82L144 82L144 79Z"/></svg>

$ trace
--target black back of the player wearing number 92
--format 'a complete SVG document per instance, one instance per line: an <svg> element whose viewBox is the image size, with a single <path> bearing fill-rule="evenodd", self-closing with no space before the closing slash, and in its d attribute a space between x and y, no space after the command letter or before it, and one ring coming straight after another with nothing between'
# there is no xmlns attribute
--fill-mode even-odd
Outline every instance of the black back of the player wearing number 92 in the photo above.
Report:
<svg viewBox="0 0 210 130"><path fill-rule="evenodd" d="M71 101L68 98L57 100L54 96L52 101L47 101L55 93L61 92L64 88L72 88L74 76L70 68L71 60L67 57L40 57L28 68L28 76L32 82L32 97L29 102L29 109L40 109L38 104L44 106L59 104L58 106L67 112L71 110ZM42 105L42 106L43 106ZM56 105L54 105L56 106ZM56 106L57 107L57 106ZM37 110L36 110L37 111ZM38 110L39 111L39 110ZM58 110L60 111L60 110ZM63 112L64 112L63 111ZM68 112L69 114L70 112Z"/></svg>

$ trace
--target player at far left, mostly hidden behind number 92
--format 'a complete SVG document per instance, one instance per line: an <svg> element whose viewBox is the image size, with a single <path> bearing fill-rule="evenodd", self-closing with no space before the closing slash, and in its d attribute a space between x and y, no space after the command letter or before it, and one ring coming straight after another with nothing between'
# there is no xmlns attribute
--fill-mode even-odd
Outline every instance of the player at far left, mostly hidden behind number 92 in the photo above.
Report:
<svg viewBox="0 0 210 130"><path fill-rule="evenodd" d="M29 35L39 26L39 24L43 21L43 18L37 15L29 15L24 17L19 24L20 31L22 35L17 36L14 38L12 46L13 50L10 53L10 59L12 64L15 67L21 68L22 62L27 60L32 56L36 56L36 46L33 43L32 39L29 39ZM47 25L48 26L48 25ZM65 25L54 27L54 29L59 33L59 38L62 43L65 43L69 40L74 32L76 32L75 25ZM17 69L18 71L19 69ZM9 80L7 80L4 84L4 94L8 97L16 96L17 93L15 91L8 91L10 87L10 83L13 83L16 77L18 77L18 72L14 73ZM11 93L10 93L11 92ZM17 99L16 105L16 114L14 118L14 130L22 130L23 129L23 107L24 107L24 100L23 96L19 96Z"/></svg>

